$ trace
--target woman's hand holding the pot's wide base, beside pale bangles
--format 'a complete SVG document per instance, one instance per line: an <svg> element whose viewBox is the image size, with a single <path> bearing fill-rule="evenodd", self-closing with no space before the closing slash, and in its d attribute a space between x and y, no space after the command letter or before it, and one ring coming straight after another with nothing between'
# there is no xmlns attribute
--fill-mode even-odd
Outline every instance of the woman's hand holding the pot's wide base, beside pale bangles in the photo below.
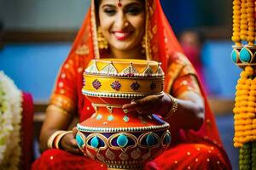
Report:
<svg viewBox="0 0 256 170"><path fill-rule="evenodd" d="M73 154L82 154L82 152L79 150L79 146L75 139L75 136L78 130L76 127L73 127L72 130L73 130L73 133L67 133L65 136L62 137L61 144L60 144L61 149L71 152Z"/></svg>

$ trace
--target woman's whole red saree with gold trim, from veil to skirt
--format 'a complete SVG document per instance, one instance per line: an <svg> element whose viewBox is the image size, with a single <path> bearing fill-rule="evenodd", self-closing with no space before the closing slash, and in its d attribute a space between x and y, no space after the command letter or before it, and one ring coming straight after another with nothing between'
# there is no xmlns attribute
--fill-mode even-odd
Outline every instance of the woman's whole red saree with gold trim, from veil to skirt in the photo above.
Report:
<svg viewBox="0 0 256 170"><path fill-rule="evenodd" d="M50 104L70 113L78 113L80 122L94 113L90 101L81 93L83 71L90 59L104 56L96 41L94 1L85 17L73 48L61 67ZM169 150L148 162L145 169L231 169L218 136L218 129L207 104L193 66L183 56L177 38L166 20L159 0L146 0L147 59L162 62L166 72L165 92L177 97L193 90L205 99L205 122L198 132L180 129L172 133ZM47 150L33 163L32 169L106 169L104 165L84 156L73 156L63 150Z"/></svg>

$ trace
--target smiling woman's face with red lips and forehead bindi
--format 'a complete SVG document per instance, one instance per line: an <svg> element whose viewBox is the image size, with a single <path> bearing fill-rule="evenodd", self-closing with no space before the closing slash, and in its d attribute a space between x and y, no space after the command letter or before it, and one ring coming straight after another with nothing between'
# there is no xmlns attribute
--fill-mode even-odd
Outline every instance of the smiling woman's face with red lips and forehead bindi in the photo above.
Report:
<svg viewBox="0 0 256 170"><path fill-rule="evenodd" d="M137 48L143 40L145 9L139 0L102 0L99 21L103 36L111 48L126 51Z"/></svg>

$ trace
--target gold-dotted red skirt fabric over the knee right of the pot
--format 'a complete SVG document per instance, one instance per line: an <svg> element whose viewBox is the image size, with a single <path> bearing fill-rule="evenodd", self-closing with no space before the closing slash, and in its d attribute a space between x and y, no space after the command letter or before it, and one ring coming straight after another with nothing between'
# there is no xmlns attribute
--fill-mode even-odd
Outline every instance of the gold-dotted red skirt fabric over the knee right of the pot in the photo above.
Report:
<svg viewBox="0 0 256 170"><path fill-rule="evenodd" d="M178 144L145 166L146 170L231 169L221 150L211 144Z"/></svg>

